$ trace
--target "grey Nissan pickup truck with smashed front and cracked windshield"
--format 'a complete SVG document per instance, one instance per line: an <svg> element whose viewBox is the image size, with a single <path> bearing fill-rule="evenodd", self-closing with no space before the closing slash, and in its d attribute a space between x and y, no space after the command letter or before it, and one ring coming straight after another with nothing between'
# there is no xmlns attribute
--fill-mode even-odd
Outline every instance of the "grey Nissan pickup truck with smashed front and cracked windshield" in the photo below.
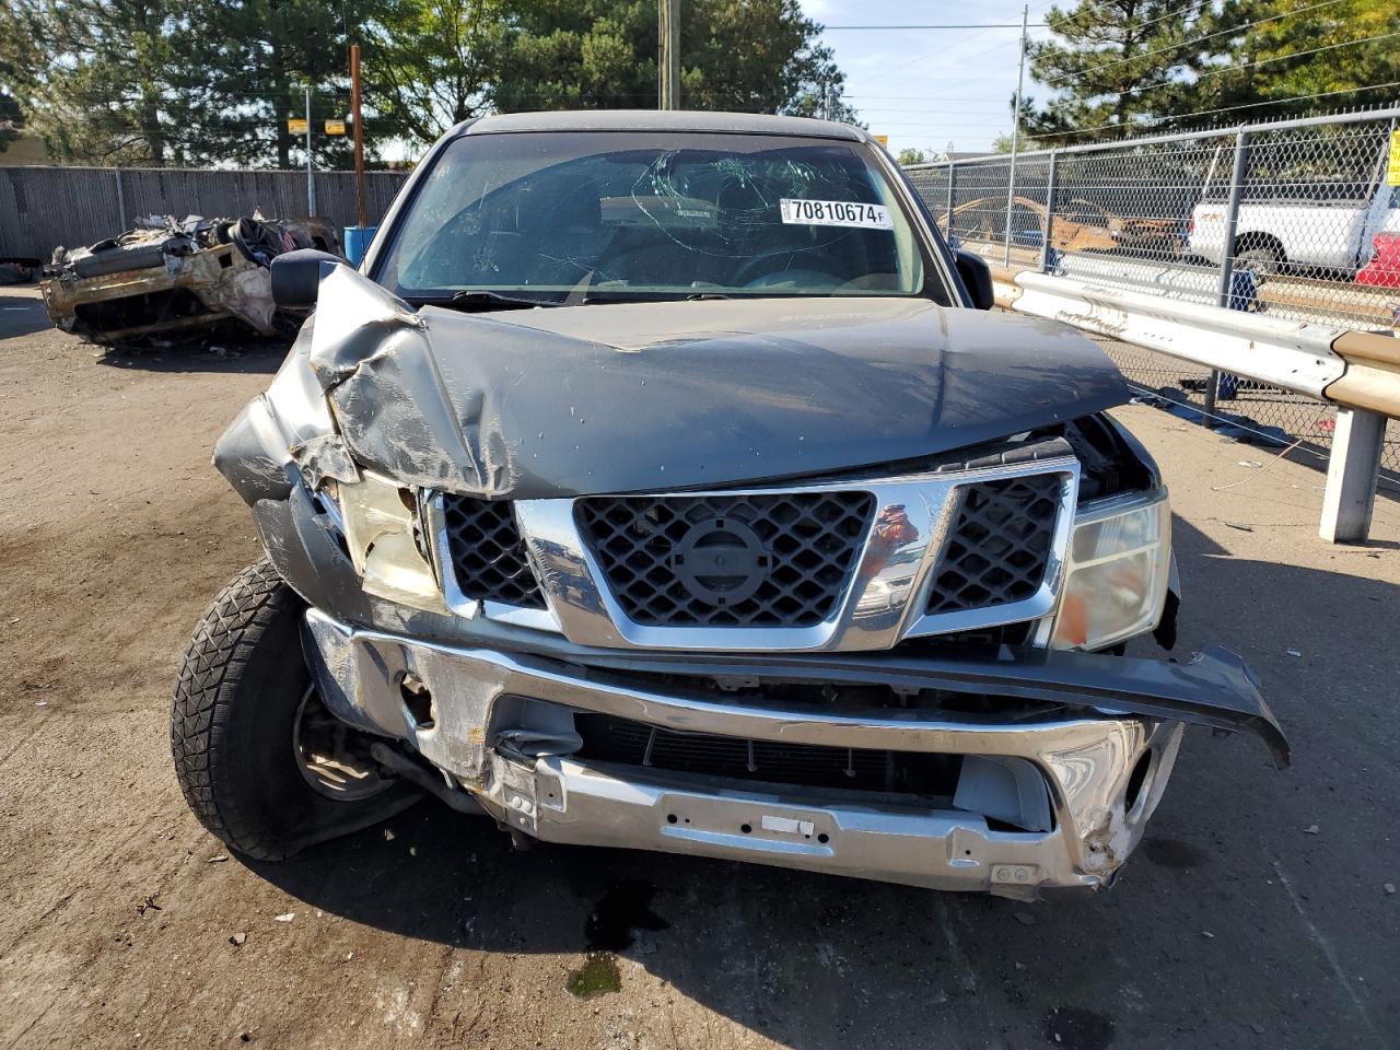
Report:
<svg viewBox="0 0 1400 1050"><path fill-rule="evenodd" d="M1287 743L1177 609L1068 328L984 312L837 123L462 125L214 463L266 559L196 629L185 797L281 858L431 794L536 840L1028 897L1112 882L1187 724Z"/></svg>

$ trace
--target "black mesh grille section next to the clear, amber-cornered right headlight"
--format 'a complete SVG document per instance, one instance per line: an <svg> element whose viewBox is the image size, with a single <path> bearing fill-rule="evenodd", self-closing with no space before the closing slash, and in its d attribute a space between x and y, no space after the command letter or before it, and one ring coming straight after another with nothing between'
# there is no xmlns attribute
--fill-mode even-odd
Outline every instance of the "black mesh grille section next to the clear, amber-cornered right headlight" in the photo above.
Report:
<svg viewBox="0 0 1400 1050"><path fill-rule="evenodd" d="M1050 561L1061 484L1047 473L965 486L928 613L1033 598Z"/></svg>

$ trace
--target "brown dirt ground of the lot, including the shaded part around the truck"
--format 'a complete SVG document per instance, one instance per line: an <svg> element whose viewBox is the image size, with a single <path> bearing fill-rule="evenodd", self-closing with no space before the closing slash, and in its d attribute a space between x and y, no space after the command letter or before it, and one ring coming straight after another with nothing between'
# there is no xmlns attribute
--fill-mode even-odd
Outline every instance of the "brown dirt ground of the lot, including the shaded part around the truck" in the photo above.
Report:
<svg viewBox="0 0 1400 1050"><path fill-rule="evenodd" d="M167 708L258 554L209 455L276 364L101 360L0 291L0 1046L1400 1046L1400 505L1324 546L1317 472L1123 410L1173 486L1182 645L1247 657L1295 762L1191 729L1103 895L515 854L433 804L255 865L185 809Z"/></svg>

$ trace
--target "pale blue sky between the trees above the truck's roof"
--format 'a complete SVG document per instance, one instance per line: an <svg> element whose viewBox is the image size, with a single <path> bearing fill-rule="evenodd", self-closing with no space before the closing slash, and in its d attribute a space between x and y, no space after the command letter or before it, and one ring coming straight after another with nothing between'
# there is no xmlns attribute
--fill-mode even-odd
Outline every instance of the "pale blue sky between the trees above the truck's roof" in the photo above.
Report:
<svg viewBox="0 0 1400 1050"><path fill-rule="evenodd" d="M913 146L935 151L991 150L1011 130L1023 0L802 0L823 25L1016 22L1015 29L836 31L823 41L846 73L846 101L895 153ZM1051 0L1032 0L1030 22L1043 21ZM1070 0L1063 8L1072 7ZM1030 29L1030 39L1047 36ZM1026 91L1035 95L1030 76ZM1044 88L1039 90L1044 97Z"/></svg>

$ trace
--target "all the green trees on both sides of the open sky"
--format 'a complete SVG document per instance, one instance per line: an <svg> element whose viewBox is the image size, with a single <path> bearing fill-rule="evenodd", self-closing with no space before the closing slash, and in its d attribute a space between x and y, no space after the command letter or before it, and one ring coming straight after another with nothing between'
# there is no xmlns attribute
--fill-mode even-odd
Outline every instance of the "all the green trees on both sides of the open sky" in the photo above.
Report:
<svg viewBox="0 0 1400 1050"><path fill-rule="evenodd" d="M1397 0L1078 0L1044 18L1021 148L1400 92ZM799 0L686 0L683 104L855 120L820 31ZM0 146L22 129L60 161L287 168L309 91L315 161L343 167L349 136L323 122L347 116L351 42L371 158L489 112L657 101L655 0L7 0Z"/></svg>

